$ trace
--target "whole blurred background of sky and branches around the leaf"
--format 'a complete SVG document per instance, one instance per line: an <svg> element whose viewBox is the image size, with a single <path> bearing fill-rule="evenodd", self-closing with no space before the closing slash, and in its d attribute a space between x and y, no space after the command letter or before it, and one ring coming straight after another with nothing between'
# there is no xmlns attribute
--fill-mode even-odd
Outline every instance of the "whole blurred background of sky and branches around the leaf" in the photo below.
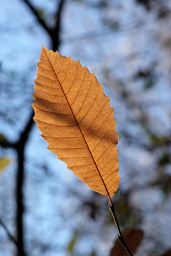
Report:
<svg viewBox="0 0 171 256"><path fill-rule="evenodd" d="M108 198L46 149L33 122L41 45L80 59L117 119L120 227L144 231L134 255L170 249L171 1L1 3L0 256L110 255ZM134 241L133 241L134 242Z"/></svg>

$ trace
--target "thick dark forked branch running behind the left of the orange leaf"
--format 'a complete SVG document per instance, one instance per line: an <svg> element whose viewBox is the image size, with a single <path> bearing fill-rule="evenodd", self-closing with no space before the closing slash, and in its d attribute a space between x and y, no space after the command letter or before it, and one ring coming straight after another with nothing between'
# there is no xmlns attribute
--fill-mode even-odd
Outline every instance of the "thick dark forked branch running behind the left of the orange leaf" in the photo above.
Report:
<svg viewBox="0 0 171 256"><path fill-rule="evenodd" d="M25 3L31 8L31 10L34 12L35 16L37 17L40 24L43 26L43 28L46 29L46 31L49 33L52 39L52 49L53 51L56 51L59 45L59 29L60 29L60 15L62 6L64 3L64 0L61 0L58 6L58 11L56 13L56 23L55 28L51 29L47 26L45 21L39 17L38 10L27 0L24 0ZM15 244L18 247L18 256L24 256L24 246L23 246L23 211L24 211L24 205L23 205L23 180L24 180L24 148L27 141L28 133L31 130L32 124L34 123L33 120L34 117L34 111L32 111L30 118L28 120L28 123L26 125L25 130L21 133L20 138L15 143L10 143L8 141L0 141L0 145L2 147L7 148L14 148L16 149L18 153L18 172L17 172L17 187L16 187L16 200L17 200L17 242L13 239L10 232L6 228L3 222L0 222L1 225L5 228L8 236L15 242Z"/></svg>

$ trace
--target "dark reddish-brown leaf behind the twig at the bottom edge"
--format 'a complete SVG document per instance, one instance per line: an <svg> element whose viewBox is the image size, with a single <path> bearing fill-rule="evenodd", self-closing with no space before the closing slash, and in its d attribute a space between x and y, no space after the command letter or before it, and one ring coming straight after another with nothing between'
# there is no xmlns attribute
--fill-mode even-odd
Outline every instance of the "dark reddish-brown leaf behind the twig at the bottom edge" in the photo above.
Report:
<svg viewBox="0 0 171 256"><path fill-rule="evenodd" d="M144 232L140 229L127 228L122 232L122 236L127 244L129 250L132 254L136 252L138 245L143 239ZM125 251L125 248L122 244L117 240L115 245L110 253L110 256L127 256L128 253Z"/></svg>

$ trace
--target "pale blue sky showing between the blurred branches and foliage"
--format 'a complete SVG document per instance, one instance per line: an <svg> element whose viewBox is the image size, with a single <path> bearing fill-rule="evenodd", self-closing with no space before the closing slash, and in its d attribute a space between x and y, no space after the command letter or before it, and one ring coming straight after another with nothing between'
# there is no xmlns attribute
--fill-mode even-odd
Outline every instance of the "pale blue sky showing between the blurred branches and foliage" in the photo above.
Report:
<svg viewBox="0 0 171 256"><path fill-rule="evenodd" d="M94 1L96 4L98 1ZM36 7L47 12L47 19L52 23L55 1L32 1ZM49 15L49 16L48 16ZM62 14L61 55L70 55L74 60L79 59L89 72L95 72L99 83L103 83L104 91L110 95L111 107L114 107L114 118L117 119L116 131L120 133L118 144L120 165L120 194L122 191L144 186L149 180L155 181L157 161L160 152L147 152L142 145L148 145L149 137L137 121L141 111L147 118L147 126L157 136L170 132L170 38L168 17L159 20L155 12L147 12L142 5L135 1L116 1L105 11L92 7L89 2L66 1ZM111 30L107 22L117 22L119 29ZM50 49L51 41L48 34L37 23L35 16L24 3L19 0L7 0L1 3L0 10L0 61L1 66L1 116L0 133L8 140L15 141L24 129L32 110L31 94L39 62L42 45ZM144 90L144 80L135 79L139 70L147 70L154 65L155 85ZM121 97L122 86L128 92L128 99ZM129 104L128 104L129 103ZM138 108L139 106L140 108ZM131 137L125 139L123 133ZM73 230L82 227L89 236L84 236L78 243L78 250L84 247L89 255L92 248L99 246L99 255L103 255L112 246L111 229L103 235L97 223L89 221L88 214L82 213L82 200L92 197L93 192L66 169L66 164L58 161L51 153L47 143L39 136L36 124L29 134L25 160L25 202L26 240L27 249L33 250L30 255L40 255L40 241L51 243L52 249L47 255L66 255L66 244L73 235ZM137 143L136 143L137 142ZM163 150L163 149L162 149ZM11 149L0 151L4 157L11 159L11 164L0 176L0 214L8 223L12 232L15 230L15 207L13 179L16 173L16 154ZM47 171L48 169L48 171ZM164 170L170 173L170 166ZM130 181L131 180L131 185ZM66 189L67 188L67 189ZM5 191L5 193L4 193ZM74 191L74 195L69 193ZM79 197L75 195L79 195ZM157 198L157 199L156 199ZM107 205L108 199L100 200ZM4 204L5 201L5 204ZM160 237L160 243L165 248L169 246L170 227L169 202L163 203L163 194L157 188L133 192L130 202L142 212L142 226L147 233ZM152 203L153 202L153 203ZM162 208L160 205L162 204ZM147 216L144 211L156 212L155 216ZM70 219L66 209L70 209ZM75 209L78 212L75 212ZM161 215L165 213L165 220ZM105 215L105 214L104 214ZM101 223L103 216L99 216ZM159 222L161 221L161 222ZM103 222L102 222L103 223ZM159 223L158 227L156 223ZM95 228L92 228L94 225ZM48 230L48 231L47 231ZM99 231L102 238L99 243ZM112 229L113 230L113 229ZM112 231L115 232L115 231ZM117 234L117 232L115 232ZM164 234L168 234L168 238ZM6 236L0 229L2 241ZM93 243L91 242L93 241ZM147 240L145 240L146 244ZM89 246L85 246L88 243ZM8 249L7 249L8 245ZM37 248L36 248L37 245ZM97 246L98 245L98 246ZM145 245L142 251L145 254ZM148 247L149 246L149 247ZM152 248L149 242L148 250ZM2 243L0 256L13 255L12 243ZM34 248L34 249L33 249ZM46 255L46 252L42 252ZM137 254L140 255L140 254Z"/></svg>

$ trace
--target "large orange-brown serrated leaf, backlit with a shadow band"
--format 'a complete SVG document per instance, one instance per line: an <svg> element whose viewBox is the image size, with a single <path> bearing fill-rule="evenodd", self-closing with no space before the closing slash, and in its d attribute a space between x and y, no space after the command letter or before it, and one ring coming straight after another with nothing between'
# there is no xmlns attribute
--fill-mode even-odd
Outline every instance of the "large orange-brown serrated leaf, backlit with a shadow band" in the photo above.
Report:
<svg viewBox="0 0 171 256"><path fill-rule="evenodd" d="M35 80L34 120L48 149L80 180L113 196L118 175L118 135L109 97L87 67L42 48Z"/></svg>

